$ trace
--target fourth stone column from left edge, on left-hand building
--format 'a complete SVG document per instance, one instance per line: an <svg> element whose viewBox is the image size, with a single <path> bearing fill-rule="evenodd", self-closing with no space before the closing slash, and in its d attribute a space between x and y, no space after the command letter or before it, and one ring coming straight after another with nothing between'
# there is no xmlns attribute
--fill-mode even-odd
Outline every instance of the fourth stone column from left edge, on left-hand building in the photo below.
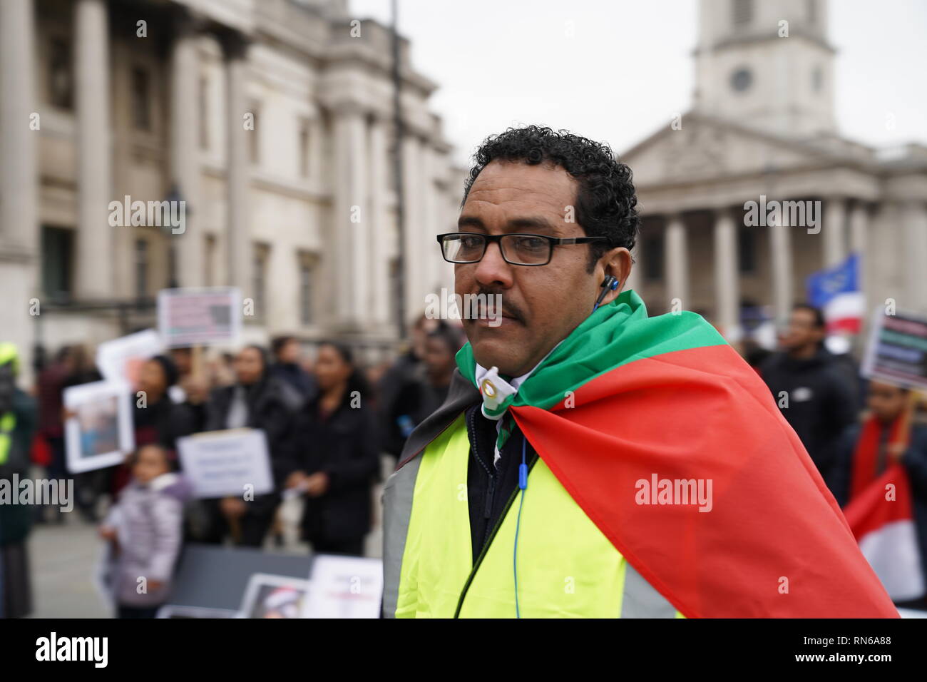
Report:
<svg viewBox="0 0 927 682"><path fill-rule="evenodd" d="M245 128L245 114L248 113L248 102L245 97L248 62L245 57L248 45L243 36L228 33L223 36L222 46L225 53L225 125L228 136L226 151L228 170L225 180L228 282L238 287L242 297L248 299L256 295L251 281L254 248L251 244L248 216L248 187L251 175L248 135L258 135L258 131ZM255 313L266 315L267 311L255 311Z"/></svg>

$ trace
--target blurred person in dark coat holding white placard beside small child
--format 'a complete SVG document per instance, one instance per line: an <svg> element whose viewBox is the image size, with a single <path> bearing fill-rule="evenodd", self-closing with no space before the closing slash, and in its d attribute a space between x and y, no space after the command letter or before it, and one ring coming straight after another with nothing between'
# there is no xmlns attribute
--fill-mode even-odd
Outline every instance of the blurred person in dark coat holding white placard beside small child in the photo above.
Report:
<svg viewBox="0 0 927 682"><path fill-rule="evenodd" d="M260 547L280 505L280 490L293 471L294 416L284 397L286 386L268 371L267 353L246 346L235 356L235 384L216 389L207 406L206 431L260 429L267 437L274 491L253 500L230 496L212 500L206 542L221 543L232 534L235 544Z"/></svg>

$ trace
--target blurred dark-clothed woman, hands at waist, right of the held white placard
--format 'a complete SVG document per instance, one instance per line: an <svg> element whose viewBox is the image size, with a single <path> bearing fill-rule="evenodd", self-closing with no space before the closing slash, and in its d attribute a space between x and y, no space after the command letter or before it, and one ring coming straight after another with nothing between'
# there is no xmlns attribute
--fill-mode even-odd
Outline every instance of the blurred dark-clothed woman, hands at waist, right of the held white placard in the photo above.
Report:
<svg viewBox="0 0 927 682"><path fill-rule="evenodd" d="M350 350L319 347L318 397L298 418L298 470L286 486L303 492L302 537L318 553L363 554L373 515L379 438Z"/></svg>

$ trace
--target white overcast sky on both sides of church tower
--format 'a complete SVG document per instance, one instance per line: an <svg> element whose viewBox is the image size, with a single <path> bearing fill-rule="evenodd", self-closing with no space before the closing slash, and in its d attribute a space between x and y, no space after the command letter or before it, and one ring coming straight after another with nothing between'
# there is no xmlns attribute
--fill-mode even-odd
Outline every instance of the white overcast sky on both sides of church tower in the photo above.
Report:
<svg viewBox="0 0 927 682"><path fill-rule="evenodd" d="M349 7L390 21L389 0ZM414 67L438 83L431 107L457 161L486 135L530 122L623 152L689 109L696 9L696 0L400 0L400 32ZM840 132L876 147L927 144L927 2L832 0L829 35Z"/></svg>

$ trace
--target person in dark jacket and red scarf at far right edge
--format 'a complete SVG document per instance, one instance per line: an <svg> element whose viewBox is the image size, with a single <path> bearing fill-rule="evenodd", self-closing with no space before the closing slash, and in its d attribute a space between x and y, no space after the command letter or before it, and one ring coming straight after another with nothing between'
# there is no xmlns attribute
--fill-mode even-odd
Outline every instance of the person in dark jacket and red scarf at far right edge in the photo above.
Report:
<svg viewBox="0 0 927 682"><path fill-rule="evenodd" d="M869 416L844 431L835 446L828 485L837 504L846 507L889 466L901 462L908 472L914 526L921 550L921 571L927 576L927 425L911 423L904 444L903 414L910 391L880 380L871 380L867 392ZM899 607L927 610L927 596Z"/></svg>

